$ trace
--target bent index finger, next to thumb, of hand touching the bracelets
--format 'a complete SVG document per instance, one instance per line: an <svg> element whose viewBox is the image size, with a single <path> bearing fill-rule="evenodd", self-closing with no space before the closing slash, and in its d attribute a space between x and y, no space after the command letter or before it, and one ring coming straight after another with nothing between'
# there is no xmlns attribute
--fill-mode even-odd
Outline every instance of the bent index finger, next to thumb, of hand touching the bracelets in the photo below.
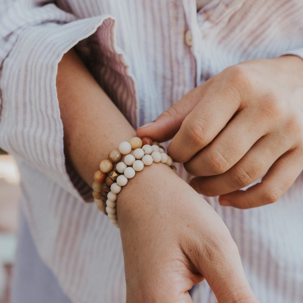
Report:
<svg viewBox="0 0 303 303"><path fill-rule="evenodd" d="M168 146L168 153L177 162L190 160L210 143L241 106L241 95L226 72L216 76L195 108L186 116Z"/></svg>

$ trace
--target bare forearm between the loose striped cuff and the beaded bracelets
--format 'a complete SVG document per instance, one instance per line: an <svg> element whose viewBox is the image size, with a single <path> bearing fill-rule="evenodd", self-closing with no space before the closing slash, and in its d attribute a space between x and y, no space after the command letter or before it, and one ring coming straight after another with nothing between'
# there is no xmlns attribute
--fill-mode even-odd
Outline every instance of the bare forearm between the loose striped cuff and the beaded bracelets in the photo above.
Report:
<svg viewBox="0 0 303 303"><path fill-rule="evenodd" d="M58 65L56 80L66 161L92 185L108 152L135 130L71 49Z"/></svg>

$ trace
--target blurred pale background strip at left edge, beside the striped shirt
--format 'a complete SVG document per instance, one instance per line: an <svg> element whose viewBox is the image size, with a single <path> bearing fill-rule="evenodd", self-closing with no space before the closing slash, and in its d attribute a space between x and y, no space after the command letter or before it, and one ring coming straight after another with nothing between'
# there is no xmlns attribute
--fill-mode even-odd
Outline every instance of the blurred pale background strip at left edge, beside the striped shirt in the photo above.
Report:
<svg viewBox="0 0 303 303"><path fill-rule="evenodd" d="M11 303L11 281L18 228L20 175L11 155L0 149L0 303Z"/></svg>

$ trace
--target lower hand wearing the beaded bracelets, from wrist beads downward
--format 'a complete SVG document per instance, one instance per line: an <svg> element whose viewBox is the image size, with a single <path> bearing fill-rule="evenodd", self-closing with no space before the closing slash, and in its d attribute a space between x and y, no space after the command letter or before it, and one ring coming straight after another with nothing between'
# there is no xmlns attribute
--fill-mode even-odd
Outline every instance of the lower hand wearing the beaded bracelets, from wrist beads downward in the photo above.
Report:
<svg viewBox="0 0 303 303"><path fill-rule="evenodd" d="M117 214L127 303L192 302L187 291L202 277L219 303L258 302L221 218L166 165L131 179Z"/></svg>

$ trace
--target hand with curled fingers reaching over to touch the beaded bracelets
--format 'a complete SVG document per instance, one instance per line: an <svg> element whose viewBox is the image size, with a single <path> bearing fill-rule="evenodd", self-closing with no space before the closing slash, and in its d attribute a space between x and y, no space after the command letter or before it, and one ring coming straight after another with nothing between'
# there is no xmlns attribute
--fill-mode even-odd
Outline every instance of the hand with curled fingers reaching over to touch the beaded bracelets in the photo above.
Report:
<svg viewBox="0 0 303 303"><path fill-rule="evenodd" d="M210 78L137 135L173 137L169 154L198 176L198 192L251 208L277 201L301 173L302 108L303 60L254 59Z"/></svg>

